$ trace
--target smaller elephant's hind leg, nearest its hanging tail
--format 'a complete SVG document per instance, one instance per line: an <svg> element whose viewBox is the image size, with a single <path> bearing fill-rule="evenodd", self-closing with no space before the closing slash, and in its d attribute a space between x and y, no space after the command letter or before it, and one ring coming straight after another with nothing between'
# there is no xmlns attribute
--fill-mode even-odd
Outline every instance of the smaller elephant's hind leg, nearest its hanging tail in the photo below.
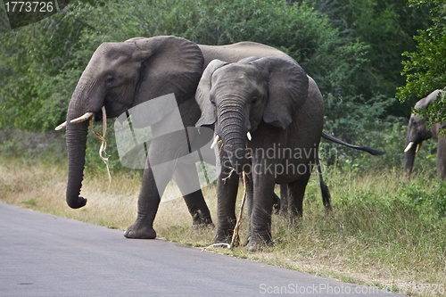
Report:
<svg viewBox="0 0 446 297"><path fill-rule="evenodd" d="M288 184L288 214L292 225L295 225L302 218L303 196L309 180L310 174L306 174L293 183Z"/></svg>

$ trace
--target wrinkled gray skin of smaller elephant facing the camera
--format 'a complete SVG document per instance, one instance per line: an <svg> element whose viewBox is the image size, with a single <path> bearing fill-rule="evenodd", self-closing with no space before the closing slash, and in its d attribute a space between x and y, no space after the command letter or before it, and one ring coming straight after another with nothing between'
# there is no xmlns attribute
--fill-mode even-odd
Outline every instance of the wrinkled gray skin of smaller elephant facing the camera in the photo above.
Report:
<svg viewBox="0 0 446 297"><path fill-rule="evenodd" d="M272 242L271 196L275 184L288 186L291 219L302 214L305 187L318 160L322 97L297 62L267 57L230 64L211 62L195 98L202 110L196 126L216 123L215 133L221 137L215 242L227 242L232 235L238 180L243 171L248 171L251 240L247 248L254 252ZM252 135L251 141L247 132ZM307 154L284 156L286 149ZM272 151L272 158L260 153ZM275 170L277 166L285 168L284 172ZM230 174L232 169L235 171Z"/></svg>

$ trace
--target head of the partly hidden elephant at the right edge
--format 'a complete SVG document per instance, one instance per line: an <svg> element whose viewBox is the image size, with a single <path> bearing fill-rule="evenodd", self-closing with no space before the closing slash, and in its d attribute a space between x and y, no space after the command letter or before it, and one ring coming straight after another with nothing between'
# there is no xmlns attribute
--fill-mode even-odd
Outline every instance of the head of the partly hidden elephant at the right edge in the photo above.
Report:
<svg viewBox="0 0 446 297"><path fill-rule="evenodd" d="M425 110L429 104L437 98L440 90L435 90L425 98L415 104L415 109ZM406 149L404 150L404 169L408 174L411 173L415 161L415 154L418 152L423 141L429 138L437 138L439 125L434 124L431 128L426 127L428 119L420 118L417 114L411 114L409 119L408 133L406 136Z"/></svg>

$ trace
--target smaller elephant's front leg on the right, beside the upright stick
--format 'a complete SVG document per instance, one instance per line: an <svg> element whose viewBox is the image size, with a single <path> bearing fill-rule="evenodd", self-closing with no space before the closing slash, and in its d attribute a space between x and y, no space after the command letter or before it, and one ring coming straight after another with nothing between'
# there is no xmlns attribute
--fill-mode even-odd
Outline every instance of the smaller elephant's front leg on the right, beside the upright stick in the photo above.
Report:
<svg viewBox="0 0 446 297"><path fill-rule="evenodd" d="M255 252L264 245L272 244L271 214L273 210L274 177L266 175L253 176L254 193L251 214L251 241L248 251Z"/></svg>

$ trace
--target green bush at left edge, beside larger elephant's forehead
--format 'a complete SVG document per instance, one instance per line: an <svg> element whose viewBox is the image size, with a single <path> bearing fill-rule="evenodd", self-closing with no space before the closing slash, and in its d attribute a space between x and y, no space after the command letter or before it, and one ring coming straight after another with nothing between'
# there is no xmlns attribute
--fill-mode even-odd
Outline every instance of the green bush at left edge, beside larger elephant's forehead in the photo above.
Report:
<svg viewBox="0 0 446 297"><path fill-rule="evenodd" d="M78 2L42 21L0 36L0 128L45 130L64 120L76 78L62 79L81 29ZM78 12L78 15L73 13Z"/></svg>

